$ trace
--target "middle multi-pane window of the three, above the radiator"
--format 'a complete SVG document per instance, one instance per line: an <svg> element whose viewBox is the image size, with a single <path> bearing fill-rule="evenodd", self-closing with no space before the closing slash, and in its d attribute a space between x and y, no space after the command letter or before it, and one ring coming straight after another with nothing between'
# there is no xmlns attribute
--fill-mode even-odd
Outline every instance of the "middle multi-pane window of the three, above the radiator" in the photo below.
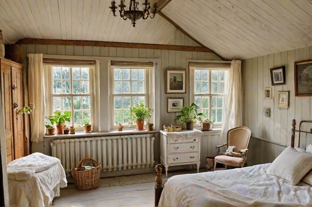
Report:
<svg viewBox="0 0 312 207"><path fill-rule="evenodd" d="M152 64L152 65L151 65ZM149 75L153 63L111 62L113 76L113 128L121 123L124 127L134 127L130 107L136 103L150 106Z"/></svg>

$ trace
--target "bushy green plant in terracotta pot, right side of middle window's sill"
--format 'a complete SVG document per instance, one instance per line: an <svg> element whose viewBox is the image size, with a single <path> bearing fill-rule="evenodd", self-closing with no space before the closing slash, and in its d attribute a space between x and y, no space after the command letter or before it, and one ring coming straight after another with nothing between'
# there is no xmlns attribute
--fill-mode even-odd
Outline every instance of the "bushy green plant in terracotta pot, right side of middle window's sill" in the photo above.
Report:
<svg viewBox="0 0 312 207"><path fill-rule="evenodd" d="M144 119L151 117L153 109L145 106L144 104L136 104L135 106L130 107L130 115L132 120L135 120L137 123L137 130L143 130Z"/></svg>

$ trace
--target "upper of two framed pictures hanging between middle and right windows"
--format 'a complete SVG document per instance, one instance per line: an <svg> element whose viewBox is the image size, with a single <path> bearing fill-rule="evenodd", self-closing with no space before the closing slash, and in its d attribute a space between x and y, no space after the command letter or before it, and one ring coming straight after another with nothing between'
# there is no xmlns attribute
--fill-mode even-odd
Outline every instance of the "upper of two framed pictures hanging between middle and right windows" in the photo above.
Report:
<svg viewBox="0 0 312 207"><path fill-rule="evenodd" d="M166 94L185 93L185 70L166 70Z"/></svg>

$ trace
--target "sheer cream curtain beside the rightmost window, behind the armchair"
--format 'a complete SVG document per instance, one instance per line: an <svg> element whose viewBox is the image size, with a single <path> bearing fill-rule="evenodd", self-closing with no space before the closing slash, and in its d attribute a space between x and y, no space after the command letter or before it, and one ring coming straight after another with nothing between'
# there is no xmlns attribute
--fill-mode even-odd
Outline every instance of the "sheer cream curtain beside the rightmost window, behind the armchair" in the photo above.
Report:
<svg viewBox="0 0 312 207"><path fill-rule="evenodd" d="M229 74L228 95L225 98L222 135L242 124L242 75L241 60L232 60Z"/></svg>

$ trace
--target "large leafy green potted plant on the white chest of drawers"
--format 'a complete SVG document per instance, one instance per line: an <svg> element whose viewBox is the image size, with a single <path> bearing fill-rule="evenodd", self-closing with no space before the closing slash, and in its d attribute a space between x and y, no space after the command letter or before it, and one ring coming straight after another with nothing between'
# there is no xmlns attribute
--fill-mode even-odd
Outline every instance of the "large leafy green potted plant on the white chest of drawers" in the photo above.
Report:
<svg viewBox="0 0 312 207"><path fill-rule="evenodd" d="M194 121L203 115L203 113L197 113L197 109L198 106L192 103L190 106L183 106L179 115L177 115L181 122L186 123L187 130L193 130Z"/></svg>

